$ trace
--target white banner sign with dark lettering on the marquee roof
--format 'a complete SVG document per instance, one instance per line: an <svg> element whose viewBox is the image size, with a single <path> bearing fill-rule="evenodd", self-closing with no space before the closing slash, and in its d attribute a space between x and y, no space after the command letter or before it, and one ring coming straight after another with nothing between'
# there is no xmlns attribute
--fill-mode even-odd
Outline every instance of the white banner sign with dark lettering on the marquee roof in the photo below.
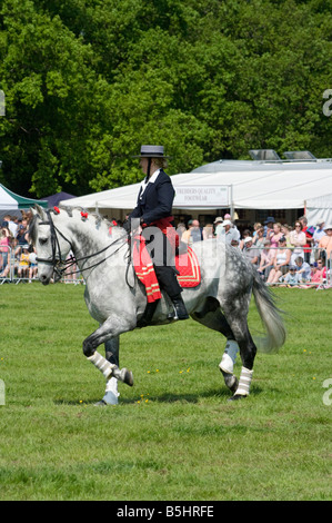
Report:
<svg viewBox="0 0 332 523"><path fill-rule="evenodd" d="M223 207L229 206L229 186L181 185L175 186L174 204L177 207L202 206Z"/></svg>

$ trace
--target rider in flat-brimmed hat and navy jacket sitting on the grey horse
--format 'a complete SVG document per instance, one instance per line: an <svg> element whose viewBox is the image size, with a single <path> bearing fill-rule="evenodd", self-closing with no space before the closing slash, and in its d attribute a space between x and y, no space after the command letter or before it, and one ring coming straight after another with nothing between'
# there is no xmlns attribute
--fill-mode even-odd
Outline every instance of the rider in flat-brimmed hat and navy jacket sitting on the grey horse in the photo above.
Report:
<svg viewBox="0 0 332 523"><path fill-rule="evenodd" d="M174 237L174 235L169 233L175 231L171 216L175 191L171 178L163 170L167 158L163 155L163 146L142 146L141 154L134 158L140 158L140 166L145 178L141 182L137 207L129 215L128 221L124 223L124 228L129 231L133 225L132 218L139 219L147 248L150 255L153 253L154 272L160 288L165 290L171 298L178 319L188 319L189 315L181 297L182 288L177 278L174 246L169 245L170 236ZM162 243L159 246L158 241L155 241L158 238L151 236L149 226L158 227L162 230L163 234L157 235L162 238ZM157 303L149 303L147 305L143 324L151 322Z"/></svg>

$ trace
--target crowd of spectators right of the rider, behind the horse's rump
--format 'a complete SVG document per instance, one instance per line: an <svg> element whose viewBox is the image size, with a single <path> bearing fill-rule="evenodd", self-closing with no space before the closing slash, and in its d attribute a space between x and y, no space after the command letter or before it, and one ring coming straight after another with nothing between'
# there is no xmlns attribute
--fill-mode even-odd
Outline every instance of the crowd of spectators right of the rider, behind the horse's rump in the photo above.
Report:
<svg viewBox="0 0 332 523"><path fill-rule="evenodd" d="M326 266L332 279L332 224L323 219L308 226L302 216L290 226L269 216L263 224L240 231L225 214L204 227L197 219L189 220L188 227L180 223L178 233L189 245L215 238L241 249L269 286L319 287L326 280Z"/></svg>

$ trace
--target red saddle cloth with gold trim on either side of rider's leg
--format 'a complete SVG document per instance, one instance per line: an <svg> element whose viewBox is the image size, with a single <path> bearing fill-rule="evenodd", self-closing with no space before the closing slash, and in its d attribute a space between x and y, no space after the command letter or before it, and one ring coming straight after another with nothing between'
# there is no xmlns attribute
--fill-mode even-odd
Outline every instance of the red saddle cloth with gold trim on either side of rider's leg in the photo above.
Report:
<svg viewBox="0 0 332 523"><path fill-rule="evenodd" d="M147 290L148 303L162 297L150 254L142 236L135 237L132 249L133 268L139 280ZM197 287L201 283L201 269L195 253L191 247L188 251L175 256L175 267L179 270L178 282L181 287Z"/></svg>

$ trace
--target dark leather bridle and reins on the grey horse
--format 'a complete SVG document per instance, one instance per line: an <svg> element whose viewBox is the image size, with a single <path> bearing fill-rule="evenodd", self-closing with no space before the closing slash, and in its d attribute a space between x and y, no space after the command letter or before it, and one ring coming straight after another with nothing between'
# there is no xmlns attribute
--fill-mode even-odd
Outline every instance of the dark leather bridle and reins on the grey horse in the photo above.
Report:
<svg viewBox="0 0 332 523"><path fill-rule="evenodd" d="M70 248L71 250L73 251L73 247L72 247L72 244L71 241L61 233L61 230L58 229L58 227L56 227L53 220L52 220L52 216L51 216L51 211L50 209L46 210L44 211L48 216L48 220L42 220L42 221L39 221L38 225L49 225L50 226L50 231L51 231L51 247L52 247L52 255L50 258L40 258L40 257L37 257L37 263L41 262L43 264L50 264L52 267L53 267L53 270L54 273L57 274L57 276L59 277L59 279L62 277L62 275L67 272L67 269L69 267L72 267L73 265L76 265L78 262L85 262L87 259L91 259L93 258L94 256L98 256L104 251L107 251L110 247L112 247L114 244L117 244L118 241L120 241L121 239L124 239L124 238L128 238L128 235L127 233L122 236L119 236L119 238L114 239L113 241L111 241L109 245L107 245L104 248L98 250L97 253L92 253L88 256L82 256L81 258L74 258L73 256L71 256L70 258L68 259L62 259L62 256L61 256L61 249L60 249L60 243L59 243L59 238L58 238L58 235L60 235L69 245L70 245ZM92 264L92 265L89 265L89 267L83 267L79 270L73 270L71 273L67 273L68 275L71 275L71 274L78 274L78 273L82 273L83 270L89 270L89 269L92 269L94 267L97 267L98 265L104 263L108 258L110 258L111 256L113 256L115 253L118 253L120 250L121 247L123 246L128 246L129 244L127 241L124 241L123 244L121 244L115 250L113 250L109 256L102 258L101 260L97 262L95 264ZM129 249L130 251L130 249ZM130 263L130 260L129 260Z"/></svg>

